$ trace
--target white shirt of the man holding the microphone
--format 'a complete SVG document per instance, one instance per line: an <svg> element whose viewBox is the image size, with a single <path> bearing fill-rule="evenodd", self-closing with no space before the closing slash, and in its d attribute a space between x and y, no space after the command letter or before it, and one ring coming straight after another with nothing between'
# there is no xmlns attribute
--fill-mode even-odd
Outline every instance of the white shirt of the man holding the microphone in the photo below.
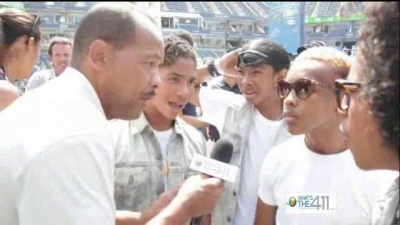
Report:
<svg viewBox="0 0 400 225"><path fill-rule="evenodd" d="M115 223L114 148L89 81L65 76L0 115L0 224Z"/></svg>

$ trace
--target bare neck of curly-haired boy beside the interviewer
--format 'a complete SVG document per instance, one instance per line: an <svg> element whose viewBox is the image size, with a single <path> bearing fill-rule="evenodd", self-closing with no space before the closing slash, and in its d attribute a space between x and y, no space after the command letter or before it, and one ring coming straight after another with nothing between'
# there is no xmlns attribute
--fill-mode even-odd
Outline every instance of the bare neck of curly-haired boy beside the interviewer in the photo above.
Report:
<svg viewBox="0 0 400 225"><path fill-rule="evenodd" d="M174 120L165 117L152 103L148 103L144 109L144 115L156 131L166 131L174 126Z"/></svg>

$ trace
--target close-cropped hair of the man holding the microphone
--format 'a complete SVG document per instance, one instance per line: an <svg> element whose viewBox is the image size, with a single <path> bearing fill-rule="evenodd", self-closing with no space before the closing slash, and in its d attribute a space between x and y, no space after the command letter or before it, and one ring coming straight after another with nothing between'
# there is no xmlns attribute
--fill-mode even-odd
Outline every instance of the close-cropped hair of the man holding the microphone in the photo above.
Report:
<svg viewBox="0 0 400 225"><path fill-rule="evenodd" d="M99 3L82 19L75 33L71 65L76 67L95 40L103 40L116 49L135 41L138 29L160 32L153 18L131 3Z"/></svg>

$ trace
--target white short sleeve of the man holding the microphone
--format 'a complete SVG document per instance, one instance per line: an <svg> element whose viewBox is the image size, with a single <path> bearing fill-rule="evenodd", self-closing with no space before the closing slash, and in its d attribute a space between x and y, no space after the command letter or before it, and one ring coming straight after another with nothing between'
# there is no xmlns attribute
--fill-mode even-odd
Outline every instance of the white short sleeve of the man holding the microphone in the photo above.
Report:
<svg viewBox="0 0 400 225"><path fill-rule="evenodd" d="M50 146L21 176L19 224L115 224L112 154L98 135Z"/></svg>

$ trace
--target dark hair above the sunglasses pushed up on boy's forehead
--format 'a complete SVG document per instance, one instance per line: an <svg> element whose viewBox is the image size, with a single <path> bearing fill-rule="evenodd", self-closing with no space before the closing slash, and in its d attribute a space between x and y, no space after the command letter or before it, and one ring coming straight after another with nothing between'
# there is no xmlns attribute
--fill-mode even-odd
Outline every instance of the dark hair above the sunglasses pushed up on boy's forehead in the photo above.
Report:
<svg viewBox="0 0 400 225"><path fill-rule="evenodd" d="M290 58L289 54L279 43L269 39L256 39L250 41L248 44L242 47L242 52L246 50L255 50L261 52L270 57L270 66L275 72L278 72L284 68L289 69Z"/></svg>

